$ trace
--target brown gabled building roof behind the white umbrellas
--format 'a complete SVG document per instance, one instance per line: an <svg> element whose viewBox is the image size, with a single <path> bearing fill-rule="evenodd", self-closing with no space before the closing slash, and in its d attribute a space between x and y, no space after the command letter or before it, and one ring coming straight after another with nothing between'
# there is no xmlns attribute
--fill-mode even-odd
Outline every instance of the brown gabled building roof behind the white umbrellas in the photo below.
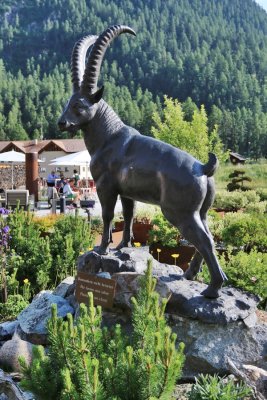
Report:
<svg viewBox="0 0 267 400"><path fill-rule="evenodd" d="M0 141L0 153L15 149L22 153L42 153L45 150L63 150L65 153L76 153L86 150L83 139L51 139L51 140L13 140Z"/></svg>

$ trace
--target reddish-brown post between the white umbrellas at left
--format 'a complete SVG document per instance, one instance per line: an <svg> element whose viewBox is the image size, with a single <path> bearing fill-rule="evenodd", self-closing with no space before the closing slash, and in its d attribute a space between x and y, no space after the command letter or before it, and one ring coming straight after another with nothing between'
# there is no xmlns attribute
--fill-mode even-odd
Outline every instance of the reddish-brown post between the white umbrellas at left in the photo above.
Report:
<svg viewBox="0 0 267 400"><path fill-rule="evenodd" d="M34 195L35 203L38 201L38 153L25 154L26 189L30 195Z"/></svg>

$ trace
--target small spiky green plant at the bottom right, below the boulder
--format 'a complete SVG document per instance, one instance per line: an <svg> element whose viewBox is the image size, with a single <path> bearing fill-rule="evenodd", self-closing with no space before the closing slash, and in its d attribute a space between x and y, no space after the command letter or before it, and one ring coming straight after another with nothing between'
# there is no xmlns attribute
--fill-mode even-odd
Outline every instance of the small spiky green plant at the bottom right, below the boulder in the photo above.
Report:
<svg viewBox="0 0 267 400"><path fill-rule="evenodd" d="M200 375L189 394L189 400L242 400L252 394L251 389L219 376Z"/></svg>

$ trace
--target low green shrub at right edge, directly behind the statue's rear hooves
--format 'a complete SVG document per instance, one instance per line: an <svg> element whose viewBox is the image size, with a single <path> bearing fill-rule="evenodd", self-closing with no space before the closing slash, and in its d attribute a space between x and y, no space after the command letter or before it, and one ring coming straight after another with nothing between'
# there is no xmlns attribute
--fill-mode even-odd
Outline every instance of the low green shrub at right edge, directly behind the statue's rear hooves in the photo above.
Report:
<svg viewBox="0 0 267 400"><path fill-rule="evenodd" d="M219 256L219 262L226 273L228 281L226 285L233 285L247 290L261 298L261 306L267 301L267 253L252 250L250 253L244 251L234 252L227 249L227 256ZM199 279L209 283L209 273L204 266Z"/></svg>

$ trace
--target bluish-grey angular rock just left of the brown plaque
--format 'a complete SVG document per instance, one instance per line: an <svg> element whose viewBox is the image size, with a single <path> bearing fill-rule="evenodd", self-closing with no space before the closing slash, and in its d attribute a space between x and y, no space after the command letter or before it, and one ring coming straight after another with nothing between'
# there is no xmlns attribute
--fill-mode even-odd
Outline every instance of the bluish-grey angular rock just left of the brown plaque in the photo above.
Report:
<svg viewBox="0 0 267 400"><path fill-rule="evenodd" d="M51 316L51 305L57 305L59 317L65 317L68 313L73 314L74 309L67 300L56 296L50 291L42 291L36 295L32 303L19 315L19 333L22 338L34 344L46 344L46 324Z"/></svg>

